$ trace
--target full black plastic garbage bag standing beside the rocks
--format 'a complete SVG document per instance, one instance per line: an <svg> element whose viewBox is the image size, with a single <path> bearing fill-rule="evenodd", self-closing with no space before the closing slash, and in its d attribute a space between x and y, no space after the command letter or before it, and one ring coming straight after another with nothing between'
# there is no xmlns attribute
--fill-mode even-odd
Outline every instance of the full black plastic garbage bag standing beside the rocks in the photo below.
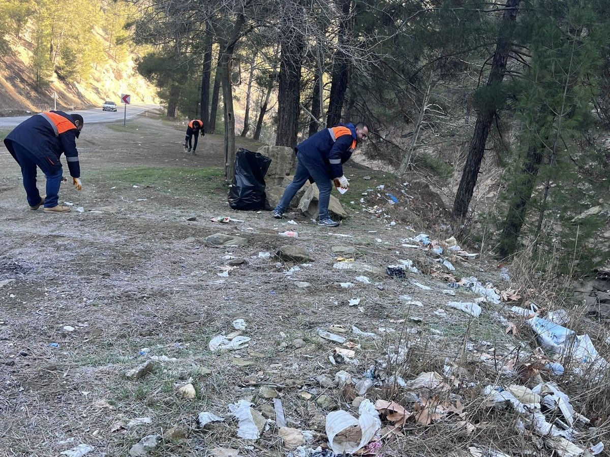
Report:
<svg viewBox="0 0 610 457"><path fill-rule="evenodd" d="M271 159L260 152L240 148L235 154L235 175L229 190L229 206L234 210L270 210L265 194L265 174Z"/></svg>

